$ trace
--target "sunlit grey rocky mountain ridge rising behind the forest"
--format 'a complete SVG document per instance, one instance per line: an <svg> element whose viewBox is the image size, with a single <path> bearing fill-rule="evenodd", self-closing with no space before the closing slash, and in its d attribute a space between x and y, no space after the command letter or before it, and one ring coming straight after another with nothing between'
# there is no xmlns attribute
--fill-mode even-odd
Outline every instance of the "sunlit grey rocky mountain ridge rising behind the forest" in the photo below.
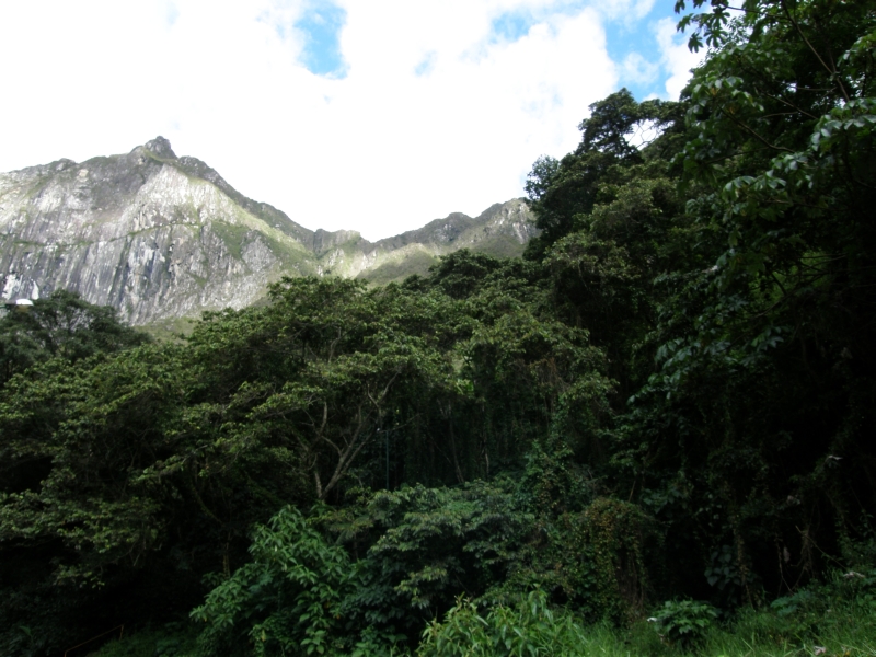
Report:
<svg viewBox="0 0 876 657"><path fill-rule="evenodd" d="M249 306L284 275L384 284L463 247L519 255L533 234L521 199L378 242L311 231L158 137L123 155L0 173L0 297L65 288L143 325Z"/></svg>

